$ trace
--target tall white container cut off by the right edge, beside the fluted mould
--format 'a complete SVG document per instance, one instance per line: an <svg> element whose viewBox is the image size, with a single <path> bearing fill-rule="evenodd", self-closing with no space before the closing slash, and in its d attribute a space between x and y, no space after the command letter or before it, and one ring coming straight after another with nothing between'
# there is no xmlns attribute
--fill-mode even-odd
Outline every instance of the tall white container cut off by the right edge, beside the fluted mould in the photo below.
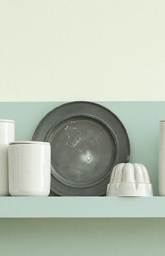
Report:
<svg viewBox="0 0 165 256"><path fill-rule="evenodd" d="M165 196L165 120L159 126L159 195Z"/></svg>

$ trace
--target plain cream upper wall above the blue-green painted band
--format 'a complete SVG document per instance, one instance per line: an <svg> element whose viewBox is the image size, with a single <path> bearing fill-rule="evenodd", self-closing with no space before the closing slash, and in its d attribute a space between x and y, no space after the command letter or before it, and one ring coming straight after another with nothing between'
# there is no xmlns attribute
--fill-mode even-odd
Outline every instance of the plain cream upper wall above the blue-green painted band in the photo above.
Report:
<svg viewBox="0 0 165 256"><path fill-rule="evenodd" d="M1 0L0 101L163 101L162 0Z"/></svg>

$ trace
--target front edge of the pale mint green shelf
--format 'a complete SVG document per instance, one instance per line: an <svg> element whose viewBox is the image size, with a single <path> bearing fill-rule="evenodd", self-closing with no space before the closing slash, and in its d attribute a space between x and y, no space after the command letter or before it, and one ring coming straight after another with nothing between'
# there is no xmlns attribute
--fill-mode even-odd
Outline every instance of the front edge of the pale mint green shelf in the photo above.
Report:
<svg viewBox="0 0 165 256"><path fill-rule="evenodd" d="M164 218L165 197L0 197L0 218Z"/></svg>

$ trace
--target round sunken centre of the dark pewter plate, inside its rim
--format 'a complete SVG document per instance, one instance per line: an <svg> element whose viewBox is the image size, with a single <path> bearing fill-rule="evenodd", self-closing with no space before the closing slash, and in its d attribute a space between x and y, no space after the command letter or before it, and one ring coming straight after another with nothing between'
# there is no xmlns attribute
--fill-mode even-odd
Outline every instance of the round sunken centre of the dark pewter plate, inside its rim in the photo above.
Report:
<svg viewBox="0 0 165 256"><path fill-rule="evenodd" d="M52 127L46 141L51 143L53 176L70 187L101 182L116 158L110 130L94 118L77 116L62 121Z"/></svg>

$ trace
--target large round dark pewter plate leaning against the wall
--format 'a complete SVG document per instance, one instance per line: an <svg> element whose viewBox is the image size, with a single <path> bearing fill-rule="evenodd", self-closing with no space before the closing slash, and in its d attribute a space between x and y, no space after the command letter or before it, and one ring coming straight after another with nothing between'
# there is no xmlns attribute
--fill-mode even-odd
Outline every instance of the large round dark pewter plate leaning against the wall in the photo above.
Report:
<svg viewBox="0 0 165 256"><path fill-rule="evenodd" d="M109 109L91 102L53 109L32 140L51 144L51 190L61 196L105 194L113 166L129 161L124 125Z"/></svg>

